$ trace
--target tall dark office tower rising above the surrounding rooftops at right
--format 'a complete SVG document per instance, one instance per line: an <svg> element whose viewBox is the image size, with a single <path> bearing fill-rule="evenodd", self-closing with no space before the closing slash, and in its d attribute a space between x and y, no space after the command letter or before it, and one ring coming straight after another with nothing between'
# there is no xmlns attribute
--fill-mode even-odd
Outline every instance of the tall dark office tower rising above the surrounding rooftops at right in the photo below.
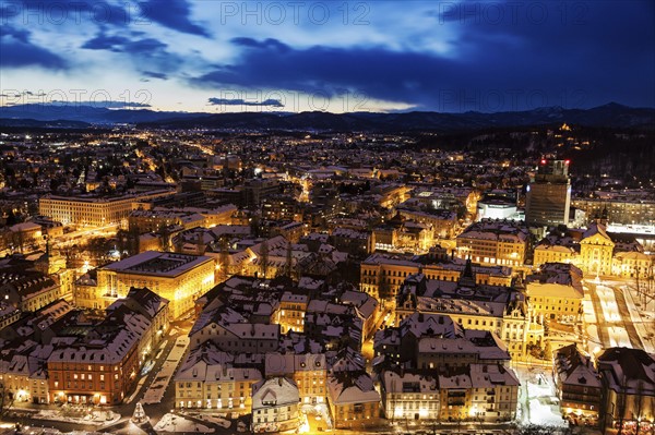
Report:
<svg viewBox="0 0 655 435"><path fill-rule="evenodd" d="M569 160L541 159L527 186L525 222L531 227L568 225L570 206Z"/></svg>

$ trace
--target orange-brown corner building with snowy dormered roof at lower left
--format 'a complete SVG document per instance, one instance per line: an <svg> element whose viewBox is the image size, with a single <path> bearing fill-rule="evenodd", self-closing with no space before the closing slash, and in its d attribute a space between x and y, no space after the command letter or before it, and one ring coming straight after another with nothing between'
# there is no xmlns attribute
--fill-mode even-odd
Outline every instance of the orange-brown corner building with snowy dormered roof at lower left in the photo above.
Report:
<svg viewBox="0 0 655 435"><path fill-rule="evenodd" d="M141 365L168 330L168 301L131 289L99 322L70 312L51 327L47 359L50 400L117 404L132 390Z"/></svg>

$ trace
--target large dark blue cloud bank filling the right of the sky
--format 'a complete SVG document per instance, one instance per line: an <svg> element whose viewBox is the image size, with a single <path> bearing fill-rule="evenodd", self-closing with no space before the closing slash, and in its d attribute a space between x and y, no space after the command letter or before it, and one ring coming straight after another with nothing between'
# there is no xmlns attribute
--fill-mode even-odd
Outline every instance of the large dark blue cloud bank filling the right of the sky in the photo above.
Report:
<svg viewBox="0 0 655 435"><path fill-rule="evenodd" d="M440 111L593 107L610 100L655 106L655 35L645 13L652 7L581 4L584 14L569 11L563 23L555 7L544 23L526 10L516 21L505 15L502 22L490 12L443 23L434 14L436 26L450 26L453 34L448 56L384 44L300 47L234 38L236 60L212 65L191 83L331 97L358 93Z"/></svg>

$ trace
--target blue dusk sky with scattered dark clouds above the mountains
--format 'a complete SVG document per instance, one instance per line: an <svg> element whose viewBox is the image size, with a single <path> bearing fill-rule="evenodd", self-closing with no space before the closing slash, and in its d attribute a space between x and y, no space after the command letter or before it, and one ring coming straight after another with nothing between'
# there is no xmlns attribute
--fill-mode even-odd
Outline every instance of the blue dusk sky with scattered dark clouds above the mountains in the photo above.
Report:
<svg viewBox="0 0 655 435"><path fill-rule="evenodd" d="M0 20L3 105L655 107L650 0L0 0Z"/></svg>

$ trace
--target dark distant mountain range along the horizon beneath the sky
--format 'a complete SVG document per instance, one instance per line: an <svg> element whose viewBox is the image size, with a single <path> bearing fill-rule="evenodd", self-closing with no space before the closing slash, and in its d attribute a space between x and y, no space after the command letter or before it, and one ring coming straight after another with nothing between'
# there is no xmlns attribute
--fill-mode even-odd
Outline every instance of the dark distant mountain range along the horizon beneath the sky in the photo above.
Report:
<svg viewBox="0 0 655 435"><path fill-rule="evenodd" d="M462 131L488 128L551 125L655 128L655 109L616 102L592 109L545 107L513 112L440 113L192 113L147 109L107 109L91 106L16 105L0 107L0 125L84 128L136 124L140 128L290 131Z"/></svg>

